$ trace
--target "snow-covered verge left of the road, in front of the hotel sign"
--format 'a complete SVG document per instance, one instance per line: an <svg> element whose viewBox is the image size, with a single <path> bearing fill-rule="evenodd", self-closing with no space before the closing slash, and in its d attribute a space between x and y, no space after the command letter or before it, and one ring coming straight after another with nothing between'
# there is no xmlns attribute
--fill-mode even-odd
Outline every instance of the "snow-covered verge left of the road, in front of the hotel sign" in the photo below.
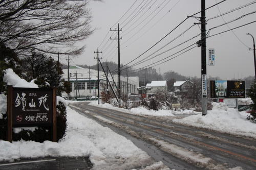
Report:
<svg viewBox="0 0 256 170"><path fill-rule="evenodd" d="M129 169L153 160L130 140L68 108L67 133L58 143L0 140L0 161L46 156L90 156L95 169Z"/></svg>

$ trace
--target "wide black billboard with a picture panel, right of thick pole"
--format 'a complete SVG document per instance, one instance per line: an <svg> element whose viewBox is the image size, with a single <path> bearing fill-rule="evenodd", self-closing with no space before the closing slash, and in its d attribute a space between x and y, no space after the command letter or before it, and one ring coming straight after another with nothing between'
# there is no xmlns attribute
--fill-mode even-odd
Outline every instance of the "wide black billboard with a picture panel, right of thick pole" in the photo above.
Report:
<svg viewBox="0 0 256 170"><path fill-rule="evenodd" d="M245 98L245 81L210 80L210 98Z"/></svg>

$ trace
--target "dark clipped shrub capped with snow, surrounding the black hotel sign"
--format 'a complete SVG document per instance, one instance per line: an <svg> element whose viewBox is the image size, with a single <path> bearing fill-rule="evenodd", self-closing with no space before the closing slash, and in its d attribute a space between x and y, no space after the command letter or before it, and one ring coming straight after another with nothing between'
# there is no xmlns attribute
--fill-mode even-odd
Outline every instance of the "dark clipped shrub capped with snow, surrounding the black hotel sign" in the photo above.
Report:
<svg viewBox="0 0 256 170"><path fill-rule="evenodd" d="M27 82L24 79L19 78L12 69L5 71L4 81L7 85L13 87L31 87L38 88L38 85L34 83L34 80ZM67 111L65 106L65 100L57 98L57 139L65 135L67 127ZM6 140L7 132L7 96L0 94L0 139ZM34 140L43 142L44 140L51 140L51 129L48 127L30 127L30 128L13 128L13 140Z"/></svg>

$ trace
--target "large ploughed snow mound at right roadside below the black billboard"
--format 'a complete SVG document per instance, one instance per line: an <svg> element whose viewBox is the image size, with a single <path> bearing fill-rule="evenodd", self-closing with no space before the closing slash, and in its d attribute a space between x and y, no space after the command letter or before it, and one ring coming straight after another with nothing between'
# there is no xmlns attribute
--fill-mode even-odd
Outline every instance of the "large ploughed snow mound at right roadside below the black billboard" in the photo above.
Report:
<svg viewBox="0 0 256 170"><path fill-rule="evenodd" d="M182 119L174 119L173 122L256 137L256 124L246 120L247 113L228 108L225 103L212 103L212 106L212 110L209 110L205 116L191 115Z"/></svg>

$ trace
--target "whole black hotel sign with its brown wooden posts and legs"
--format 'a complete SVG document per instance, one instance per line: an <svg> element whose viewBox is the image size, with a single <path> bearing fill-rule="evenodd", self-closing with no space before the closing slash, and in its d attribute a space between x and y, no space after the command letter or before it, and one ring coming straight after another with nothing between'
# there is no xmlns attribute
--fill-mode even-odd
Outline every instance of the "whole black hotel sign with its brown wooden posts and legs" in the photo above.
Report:
<svg viewBox="0 0 256 170"><path fill-rule="evenodd" d="M51 127L57 141L56 88L13 88L8 86L7 140L12 142L13 127Z"/></svg>

